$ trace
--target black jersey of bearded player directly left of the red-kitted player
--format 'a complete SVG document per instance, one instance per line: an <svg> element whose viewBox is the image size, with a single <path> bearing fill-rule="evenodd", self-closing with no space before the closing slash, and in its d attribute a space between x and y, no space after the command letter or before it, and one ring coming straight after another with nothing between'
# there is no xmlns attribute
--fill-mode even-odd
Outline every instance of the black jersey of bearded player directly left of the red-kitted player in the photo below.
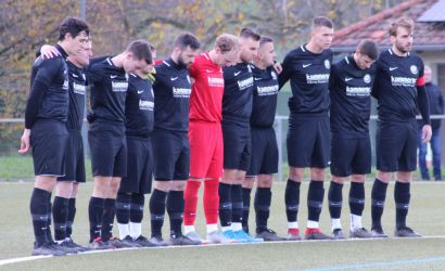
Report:
<svg viewBox="0 0 445 271"><path fill-rule="evenodd" d="M168 59L156 65L154 77L154 128L189 131L189 72Z"/></svg>

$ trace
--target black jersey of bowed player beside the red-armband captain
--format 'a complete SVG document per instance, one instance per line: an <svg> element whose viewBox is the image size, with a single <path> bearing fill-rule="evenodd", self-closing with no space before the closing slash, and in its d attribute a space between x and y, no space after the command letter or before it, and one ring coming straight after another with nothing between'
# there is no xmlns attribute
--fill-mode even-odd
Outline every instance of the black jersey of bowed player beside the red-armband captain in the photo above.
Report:
<svg viewBox="0 0 445 271"><path fill-rule="evenodd" d="M349 55L332 65L329 80L331 131L346 138L369 137L376 66L361 69Z"/></svg>

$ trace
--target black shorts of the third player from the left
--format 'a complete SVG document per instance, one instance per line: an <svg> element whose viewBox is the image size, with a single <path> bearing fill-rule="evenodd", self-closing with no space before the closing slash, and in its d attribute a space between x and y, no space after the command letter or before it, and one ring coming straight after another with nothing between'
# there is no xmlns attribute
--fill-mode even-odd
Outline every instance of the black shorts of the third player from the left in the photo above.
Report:
<svg viewBox="0 0 445 271"><path fill-rule="evenodd" d="M127 175L127 141L124 125L96 120L88 131L92 176Z"/></svg>

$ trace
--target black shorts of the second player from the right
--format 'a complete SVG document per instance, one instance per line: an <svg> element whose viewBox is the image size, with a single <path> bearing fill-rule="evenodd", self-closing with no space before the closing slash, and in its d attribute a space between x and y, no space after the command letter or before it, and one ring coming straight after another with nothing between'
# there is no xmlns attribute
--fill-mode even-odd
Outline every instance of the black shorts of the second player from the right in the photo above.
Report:
<svg viewBox="0 0 445 271"><path fill-rule="evenodd" d="M339 133L331 136L331 173L336 177L371 172L371 140L348 139Z"/></svg>

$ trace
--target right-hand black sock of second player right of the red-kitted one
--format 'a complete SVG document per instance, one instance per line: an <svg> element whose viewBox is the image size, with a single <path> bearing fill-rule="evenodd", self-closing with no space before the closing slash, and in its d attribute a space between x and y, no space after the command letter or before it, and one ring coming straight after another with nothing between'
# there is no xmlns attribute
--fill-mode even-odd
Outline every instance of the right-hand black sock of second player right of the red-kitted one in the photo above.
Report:
<svg viewBox="0 0 445 271"><path fill-rule="evenodd" d="M271 197L272 192L270 188L256 189L254 199L256 233L262 233L263 231L267 230L267 220L269 219Z"/></svg>

